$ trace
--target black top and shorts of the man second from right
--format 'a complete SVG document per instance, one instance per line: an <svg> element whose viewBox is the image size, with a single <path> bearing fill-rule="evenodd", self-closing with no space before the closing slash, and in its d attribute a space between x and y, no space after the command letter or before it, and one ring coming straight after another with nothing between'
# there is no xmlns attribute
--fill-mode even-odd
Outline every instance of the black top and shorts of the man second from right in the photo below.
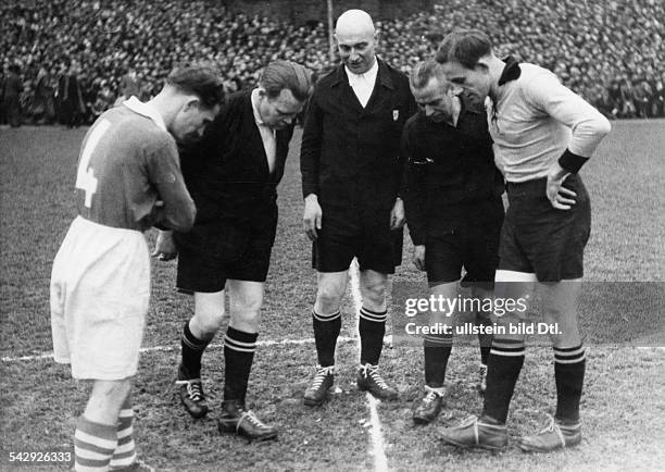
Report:
<svg viewBox="0 0 665 472"><path fill-rule="evenodd" d="M425 245L430 284L492 283L504 189L481 105L466 94L456 126L435 123L423 111L404 126L407 158L404 203L413 244Z"/></svg>

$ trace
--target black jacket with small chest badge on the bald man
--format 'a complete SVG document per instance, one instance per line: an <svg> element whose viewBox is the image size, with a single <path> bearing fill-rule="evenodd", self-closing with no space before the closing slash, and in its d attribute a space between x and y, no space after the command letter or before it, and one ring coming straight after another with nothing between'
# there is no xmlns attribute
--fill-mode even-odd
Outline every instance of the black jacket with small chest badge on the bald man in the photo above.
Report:
<svg viewBox="0 0 665 472"><path fill-rule="evenodd" d="M416 107L409 79L381 60L378 64L364 109L343 65L318 80L310 100L300 150L302 192L316 194L324 212L360 208L384 218L398 196L400 136Z"/></svg>

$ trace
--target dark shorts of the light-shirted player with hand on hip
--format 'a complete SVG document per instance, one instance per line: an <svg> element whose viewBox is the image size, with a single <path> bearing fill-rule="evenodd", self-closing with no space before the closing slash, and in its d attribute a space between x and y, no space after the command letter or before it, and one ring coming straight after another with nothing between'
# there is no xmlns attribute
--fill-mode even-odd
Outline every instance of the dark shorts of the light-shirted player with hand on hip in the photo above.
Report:
<svg viewBox="0 0 665 472"><path fill-rule="evenodd" d="M591 233L591 203L579 175L564 187L577 194L570 210L556 210L545 178L507 184L509 208L501 232L499 269L535 273L539 282L584 275L584 251Z"/></svg>

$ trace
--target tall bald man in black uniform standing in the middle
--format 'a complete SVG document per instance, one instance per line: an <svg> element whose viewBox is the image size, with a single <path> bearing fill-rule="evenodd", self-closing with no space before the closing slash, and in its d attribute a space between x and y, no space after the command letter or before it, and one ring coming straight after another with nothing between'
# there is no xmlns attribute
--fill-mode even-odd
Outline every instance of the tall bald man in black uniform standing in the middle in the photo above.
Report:
<svg viewBox="0 0 665 472"><path fill-rule="evenodd" d="M308 406L321 405L334 383L339 309L354 257L363 298L357 386L377 398L397 398L378 362L388 274L402 258L400 136L415 102L409 79L377 58L377 35L366 12L342 13L335 38L342 64L316 84L300 152L303 224L318 272L312 310L318 365L304 394Z"/></svg>

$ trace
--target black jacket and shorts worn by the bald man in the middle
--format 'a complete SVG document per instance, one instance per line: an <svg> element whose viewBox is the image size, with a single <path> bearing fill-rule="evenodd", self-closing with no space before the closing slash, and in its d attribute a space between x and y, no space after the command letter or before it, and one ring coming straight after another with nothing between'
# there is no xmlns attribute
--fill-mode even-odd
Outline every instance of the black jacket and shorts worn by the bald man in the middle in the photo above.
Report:
<svg viewBox="0 0 665 472"><path fill-rule="evenodd" d="M402 231L390 212L403 176L400 136L416 111L402 73L378 61L374 91L363 108L340 65L316 84L305 116L300 167L303 197L315 194L323 227L313 265L342 272L354 256L361 270L394 272Z"/></svg>

